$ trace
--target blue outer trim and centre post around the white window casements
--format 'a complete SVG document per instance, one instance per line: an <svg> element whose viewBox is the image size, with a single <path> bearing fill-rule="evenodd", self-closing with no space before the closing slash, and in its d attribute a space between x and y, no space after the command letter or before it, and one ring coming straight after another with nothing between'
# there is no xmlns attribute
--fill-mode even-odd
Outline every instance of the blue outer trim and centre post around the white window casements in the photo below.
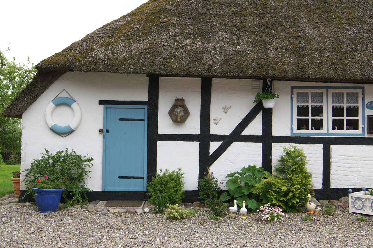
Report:
<svg viewBox="0 0 373 248"><path fill-rule="evenodd" d="M291 116L290 116L290 135L292 136L365 136L365 126L366 126L366 123L365 123L365 102L364 102L364 97L365 97L365 94L364 94L364 87L352 87L352 86L342 86L342 87L328 87L328 86L291 86L291 92L290 92L290 105L291 105ZM327 125L327 131L326 131L326 134L306 134L306 133L294 133L293 132L293 128L292 128L292 125L294 123L294 111L293 111L293 97L292 95L294 95L294 89L326 89L326 113L327 113L327 119L326 120L329 120L329 90L338 90L338 89L356 89L356 90L361 90L361 94L363 95L362 99L361 99L361 108L362 108L362 119L361 119L361 122L362 124L364 125L364 127L362 128L362 133L361 134L329 134L329 125Z"/></svg>

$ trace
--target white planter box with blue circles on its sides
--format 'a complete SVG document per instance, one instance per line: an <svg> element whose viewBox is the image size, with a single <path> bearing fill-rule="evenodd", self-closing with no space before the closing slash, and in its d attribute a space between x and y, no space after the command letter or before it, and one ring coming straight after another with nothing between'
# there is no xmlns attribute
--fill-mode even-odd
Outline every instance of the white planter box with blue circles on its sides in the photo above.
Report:
<svg viewBox="0 0 373 248"><path fill-rule="evenodd" d="M373 215L373 195L369 191L348 193L348 210L350 213Z"/></svg>

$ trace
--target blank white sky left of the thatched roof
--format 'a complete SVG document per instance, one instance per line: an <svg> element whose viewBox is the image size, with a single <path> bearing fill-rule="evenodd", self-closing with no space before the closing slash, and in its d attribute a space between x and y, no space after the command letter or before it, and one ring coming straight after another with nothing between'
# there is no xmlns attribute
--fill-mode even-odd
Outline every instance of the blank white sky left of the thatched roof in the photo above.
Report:
<svg viewBox="0 0 373 248"><path fill-rule="evenodd" d="M0 49L35 65L147 0L0 1ZM9 45L10 43L10 45ZM10 51L5 51L10 47Z"/></svg>

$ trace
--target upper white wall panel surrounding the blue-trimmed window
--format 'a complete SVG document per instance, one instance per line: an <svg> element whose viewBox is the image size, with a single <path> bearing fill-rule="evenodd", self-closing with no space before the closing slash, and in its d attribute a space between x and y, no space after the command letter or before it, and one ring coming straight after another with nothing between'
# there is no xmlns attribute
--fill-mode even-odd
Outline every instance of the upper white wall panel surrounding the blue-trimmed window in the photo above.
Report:
<svg viewBox="0 0 373 248"><path fill-rule="evenodd" d="M291 86L320 86L320 87L364 87L364 109L366 117L367 114L373 114L373 110L365 108L365 104L369 101L373 101L373 85L371 84L326 84L316 82L293 82L293 81L273 81L274 90L280 95L280 98L276 99L276 105L273 108L273 123L272 123L272 134L275 136L290 136L291 133ZM367 124L365 120L364 125ZM373 134L368 135L365 131L366 137L373 137Z"/></svg>

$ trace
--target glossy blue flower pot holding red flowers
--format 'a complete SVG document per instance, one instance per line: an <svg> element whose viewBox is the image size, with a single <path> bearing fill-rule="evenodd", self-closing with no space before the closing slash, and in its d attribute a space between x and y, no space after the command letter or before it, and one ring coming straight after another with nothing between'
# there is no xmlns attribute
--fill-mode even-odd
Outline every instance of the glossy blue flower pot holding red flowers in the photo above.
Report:
<svg viewBox="0 0 373 248"><path fill-rule="evenodd" d="M38 189L32 188L35 191L35 202L40 213L51 213L56 211L60 204L61 193L65 189Z"/></svg>

